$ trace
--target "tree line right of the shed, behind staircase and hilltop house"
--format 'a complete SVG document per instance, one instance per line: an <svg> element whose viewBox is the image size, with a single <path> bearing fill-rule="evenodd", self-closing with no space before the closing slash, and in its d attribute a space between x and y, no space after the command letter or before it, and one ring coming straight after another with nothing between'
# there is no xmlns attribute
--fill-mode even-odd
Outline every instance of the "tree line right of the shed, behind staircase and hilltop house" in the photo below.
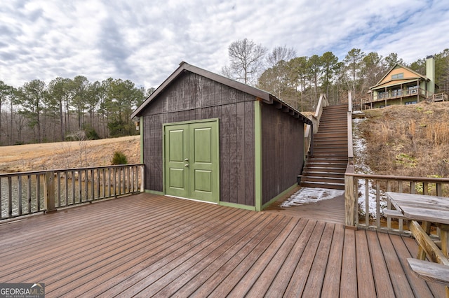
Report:
<svg viewBox="0 0 449 298"><path fill-rule="evenodd" d="M271 92L299 111L314 111L319 94L331 104L347 101L351 91L357 102L369 99L368 90L396 64L426 75L426 58L406 64L397 53L382 57L377 52L354 48L340 61L333 52L297 57L293 48L279 46L271 52L243 38L228 48L229 65L222 75ZM434 55L438 92L449 92L449 49Z"/></svg>

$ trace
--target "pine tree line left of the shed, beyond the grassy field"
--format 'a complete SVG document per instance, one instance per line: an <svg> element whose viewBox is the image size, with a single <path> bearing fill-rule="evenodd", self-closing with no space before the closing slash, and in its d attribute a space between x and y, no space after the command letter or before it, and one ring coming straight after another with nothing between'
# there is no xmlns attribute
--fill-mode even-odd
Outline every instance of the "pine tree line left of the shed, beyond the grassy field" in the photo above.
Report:
<svg viewBox="0 0 449 298"><path fill-rule="evenodd" d="M153 91L112 78L58 77L17 88L0 80L0 146L136 134L130 115Z"/></svg>

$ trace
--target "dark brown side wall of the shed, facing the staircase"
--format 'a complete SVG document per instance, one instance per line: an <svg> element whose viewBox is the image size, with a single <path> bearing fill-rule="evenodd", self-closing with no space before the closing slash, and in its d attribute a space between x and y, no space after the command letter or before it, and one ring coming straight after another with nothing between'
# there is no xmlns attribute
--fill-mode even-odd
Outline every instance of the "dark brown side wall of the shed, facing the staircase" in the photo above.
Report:
<svg viewBox="0 0 449 298"><path fill-rule="evenodd" d="M262 204L296 183L303 162L304 123L262 106Z"/></svg>

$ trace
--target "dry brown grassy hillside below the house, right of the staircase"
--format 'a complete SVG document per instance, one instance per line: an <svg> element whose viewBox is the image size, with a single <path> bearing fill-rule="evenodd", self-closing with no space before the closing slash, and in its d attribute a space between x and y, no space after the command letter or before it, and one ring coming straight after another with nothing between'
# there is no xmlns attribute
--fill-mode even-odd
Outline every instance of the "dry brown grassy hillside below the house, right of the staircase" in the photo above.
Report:
<svg viewBox="0 0 449 298"><path fill-rule="evenodd" d="M358 129L374 173L449 177L448 101L368 110Z"/></svg>

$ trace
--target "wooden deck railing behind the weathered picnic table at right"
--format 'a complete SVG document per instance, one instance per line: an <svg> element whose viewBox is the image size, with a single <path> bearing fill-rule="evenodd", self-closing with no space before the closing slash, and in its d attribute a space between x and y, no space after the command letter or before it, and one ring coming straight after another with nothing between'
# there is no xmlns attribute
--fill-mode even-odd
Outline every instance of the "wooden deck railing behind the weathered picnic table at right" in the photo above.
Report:
<svg viewBox="0 0 449 298"><path fill-rule="evenodd" d="M346 225L408 234L402 219L383 216L383 209L391 208L385 192L431 194L449 199L449 178L367 175L354 173L354 166L349 166L345 173ZM370 206L375 206L375 214L370 214Z"/></svg>

